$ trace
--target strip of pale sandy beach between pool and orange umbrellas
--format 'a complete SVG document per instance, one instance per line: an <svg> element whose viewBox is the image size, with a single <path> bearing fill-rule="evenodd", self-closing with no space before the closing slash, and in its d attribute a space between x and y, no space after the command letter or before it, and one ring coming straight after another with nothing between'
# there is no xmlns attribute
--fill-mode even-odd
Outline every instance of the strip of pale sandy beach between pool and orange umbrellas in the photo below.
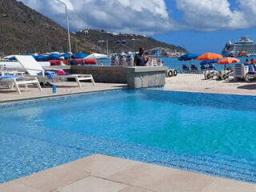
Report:
<svg viewBox="0 0 256 192"><path fill-rule="evenodd" d="M166 78L164 90L256 95L256 82L234 82L232 77L226 81L218 81L215 78L205 80L202 74L178 74L176 77Z"/></svg>

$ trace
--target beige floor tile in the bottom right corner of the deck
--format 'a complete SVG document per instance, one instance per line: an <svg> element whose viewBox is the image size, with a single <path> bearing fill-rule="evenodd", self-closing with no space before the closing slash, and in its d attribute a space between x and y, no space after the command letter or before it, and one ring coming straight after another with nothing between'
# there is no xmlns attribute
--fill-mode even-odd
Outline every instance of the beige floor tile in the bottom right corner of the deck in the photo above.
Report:
<svg viewBox="0 0 256 192"><path fill-rule="evenodd" d="M202 192L255 192L256 185L246 182L238 182L225 178L217 178Z"/></svg>

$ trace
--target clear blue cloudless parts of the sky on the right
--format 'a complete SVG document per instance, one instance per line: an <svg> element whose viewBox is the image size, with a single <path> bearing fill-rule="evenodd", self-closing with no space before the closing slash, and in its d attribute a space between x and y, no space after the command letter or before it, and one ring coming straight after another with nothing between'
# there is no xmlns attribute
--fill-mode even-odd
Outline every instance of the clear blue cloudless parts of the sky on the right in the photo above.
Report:
<svg viewBox="0 0 256 192"><path fill-rule="evenodd" d="M182 11L179 11L175 6L175 1L166 1L168 13L176 19L182 19ZM230 9L235 10L238 7L238 2L229 1ZM256 4L256 0L255 0ZM232 42L238 41L241 37L246 36L256 41L256 28L248 29L226 29L213 31L198 31L198 30L180 30L168 31L162 34L154 34L153 37L162 42L174 43L175 45L183 46L191 52L201 54L203 52L221 53L222 48L228 40Z"/></svg>

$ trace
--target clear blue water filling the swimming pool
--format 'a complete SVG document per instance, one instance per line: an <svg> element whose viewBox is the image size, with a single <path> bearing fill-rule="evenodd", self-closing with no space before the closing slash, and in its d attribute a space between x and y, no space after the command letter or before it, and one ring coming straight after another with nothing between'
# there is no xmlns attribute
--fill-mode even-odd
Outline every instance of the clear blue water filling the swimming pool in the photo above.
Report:
<svg viewBox="0 0 256 192"><path fill-rule="evenodd" d="M256 97L114 90L0 107L0 182L106 154L256 183Z"/></svg>

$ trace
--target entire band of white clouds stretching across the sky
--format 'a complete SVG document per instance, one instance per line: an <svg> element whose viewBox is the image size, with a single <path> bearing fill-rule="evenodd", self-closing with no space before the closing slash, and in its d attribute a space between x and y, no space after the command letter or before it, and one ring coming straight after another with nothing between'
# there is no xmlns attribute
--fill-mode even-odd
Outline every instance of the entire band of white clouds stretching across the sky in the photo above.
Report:
<svg viewBox="0 0 256 192"><path fill-rule="evenodd" d="M34 10L66 26L65 10L56 0L20 0ZM256 0L62 0L70 1L72 30L85 28L154 34L170 30L246 29L256 26ZM166 2L173 1L179 22L168 14ZM176 11L172 11L175 14Z"/></svg>

